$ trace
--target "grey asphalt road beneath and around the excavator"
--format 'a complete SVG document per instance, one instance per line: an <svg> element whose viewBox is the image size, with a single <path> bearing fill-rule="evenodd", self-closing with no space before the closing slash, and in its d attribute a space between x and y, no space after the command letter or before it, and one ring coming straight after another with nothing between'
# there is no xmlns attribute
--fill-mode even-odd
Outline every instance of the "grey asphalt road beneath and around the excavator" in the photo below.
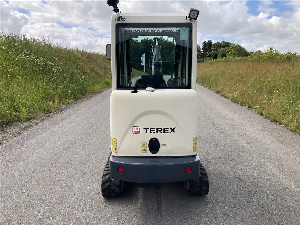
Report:
<svg viewBox="0 0 300 225"><path fill-rule="evenodd" d="M0 224L299 224L300 138L197 86L207 196L131 183L101 196L110 90L0 146Z"/></svg>

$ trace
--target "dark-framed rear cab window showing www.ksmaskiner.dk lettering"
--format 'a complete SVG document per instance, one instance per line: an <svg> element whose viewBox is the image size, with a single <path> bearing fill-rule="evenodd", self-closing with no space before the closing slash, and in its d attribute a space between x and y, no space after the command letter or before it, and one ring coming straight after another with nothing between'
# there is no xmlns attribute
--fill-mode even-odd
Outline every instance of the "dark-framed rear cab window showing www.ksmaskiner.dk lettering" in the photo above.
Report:
<svg viewBox="0 0 300 225"><path fill-rule="evenodd" d="M118 89L191 88L191 23L118 23Z"/></svg>

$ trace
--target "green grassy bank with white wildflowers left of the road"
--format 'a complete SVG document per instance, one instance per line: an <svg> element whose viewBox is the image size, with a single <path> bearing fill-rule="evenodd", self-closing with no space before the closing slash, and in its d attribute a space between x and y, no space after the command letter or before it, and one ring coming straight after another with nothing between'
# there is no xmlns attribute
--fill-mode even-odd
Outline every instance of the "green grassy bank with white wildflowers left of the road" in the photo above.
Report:
<svg viewBox="0 0 300 225"><path fill-rule="evenodd" d="M103 54L0 34L0 125L27 121L110 86L110 61Z"/></svg>

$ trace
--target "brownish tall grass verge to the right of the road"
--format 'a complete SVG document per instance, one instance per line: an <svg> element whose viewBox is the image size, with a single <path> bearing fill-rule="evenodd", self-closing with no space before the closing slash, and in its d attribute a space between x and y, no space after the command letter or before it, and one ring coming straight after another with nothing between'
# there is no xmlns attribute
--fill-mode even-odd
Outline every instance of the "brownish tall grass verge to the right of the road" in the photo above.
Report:
<svg viewBox="0 0 300 225"><path fill-rule="evenodd" d="M198 64L197 82L300 135L300 57Z"/></svg>

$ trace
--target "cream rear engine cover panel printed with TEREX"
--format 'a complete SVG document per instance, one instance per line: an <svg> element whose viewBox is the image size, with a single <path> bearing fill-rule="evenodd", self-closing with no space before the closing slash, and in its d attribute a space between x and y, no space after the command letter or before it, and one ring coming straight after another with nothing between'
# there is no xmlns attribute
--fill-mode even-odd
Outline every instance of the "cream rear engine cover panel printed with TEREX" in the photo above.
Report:
<svg viewBox="0 0 300 225"><path fill-rule="evenodd" d="M114 156L196 155L196 91L112 91L110 137ZM156 154L149 151L148 143L151 138L157 138L160 143ZM143 148L145 143L146 151L145 146Z"/></svg>

